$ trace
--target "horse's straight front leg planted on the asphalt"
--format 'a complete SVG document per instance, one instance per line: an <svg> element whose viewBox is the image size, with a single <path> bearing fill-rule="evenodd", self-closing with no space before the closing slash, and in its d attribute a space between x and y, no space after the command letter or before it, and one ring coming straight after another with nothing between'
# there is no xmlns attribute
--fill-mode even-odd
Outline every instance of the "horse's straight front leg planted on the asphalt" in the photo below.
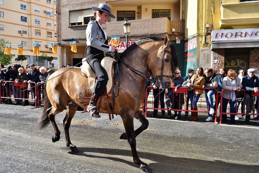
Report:
<svg viewBox="0 0 259 173"><path fill-rule="evenodd" d="M124 115L122 117L122 120L123 120L123 124L124 124L124 127L125 127L127 139L128 139L129 145L131 147L134 163L140 165L140 169L143 172L151 172L151 169L148 167L148 165L146 163L144 163L143 161L141 161L138 157L138 154L137 154L136 137L135 137L135 133L134 133L134 124L133 124L133 116Z"/></svg>

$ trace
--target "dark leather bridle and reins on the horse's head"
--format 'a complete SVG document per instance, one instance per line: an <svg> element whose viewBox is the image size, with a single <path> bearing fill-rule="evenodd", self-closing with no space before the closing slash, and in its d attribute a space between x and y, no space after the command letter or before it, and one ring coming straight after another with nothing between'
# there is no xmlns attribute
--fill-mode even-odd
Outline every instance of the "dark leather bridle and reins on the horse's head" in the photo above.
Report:
<svg viewBox="0 0 259 173"><path fill-rule="evenodd" d="M163 50L162 50L162 64L161 64L161 75L159 76L152 76L151 74L145 74L143 72L138 71L137 69L134 69L133 67L131 67L130 65L128 65L127 63L125 63L117 54L117 52L115 52L115 56L121 61L121 63L123 63L129 70L131 70L132 72L134 72L135 74L137 74L138 76L141 76L142 78L146 79L146 80L151 80L153 82L155 82L155 80L160 80L163 77L167 77L167 78L172 78L172 76L168 76L168 75L163 75L163 69L164 69L164 59L165 59L165 52L168 52L172 55L172 52L170 52L169 50L165 50L165 45L163 45ZM173 61L173 59L171 58L171 62ZM172 64L172 63L171 63Z"/></svg>

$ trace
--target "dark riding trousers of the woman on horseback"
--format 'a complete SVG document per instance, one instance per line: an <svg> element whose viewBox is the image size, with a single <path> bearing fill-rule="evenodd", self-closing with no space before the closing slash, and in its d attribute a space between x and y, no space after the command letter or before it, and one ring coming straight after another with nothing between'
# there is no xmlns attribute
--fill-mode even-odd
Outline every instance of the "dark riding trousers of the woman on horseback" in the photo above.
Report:
<svg viewBox="0 0 259 173"><path fill-rule="evenodd" d="M93 93L102 95L109 80L107 72L101 65L101 59L92 59L88 62L88 64L98 78L95 82Z"/></svg>

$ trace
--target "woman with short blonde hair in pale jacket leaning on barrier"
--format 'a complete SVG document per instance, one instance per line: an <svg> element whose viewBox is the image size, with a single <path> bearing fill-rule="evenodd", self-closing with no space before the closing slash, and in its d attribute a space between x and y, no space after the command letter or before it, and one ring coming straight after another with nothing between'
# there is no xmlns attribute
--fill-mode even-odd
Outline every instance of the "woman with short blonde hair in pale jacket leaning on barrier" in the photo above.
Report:
<svg viewBox="0 0 259 173"><path fill-rule="evenodd" d="M242 89L241 80L237 78L235 70L228 70L227 76L223 78L222 89L226 89L223 92L222 98L222 112L226 112L229 102L230 113L237 113L237 98L236 91ZM228 90L228 91L227 91ZM227 115L222 114L222 121L226 122ZM230 114L231 123L235 123L235 114Z"/></svg>

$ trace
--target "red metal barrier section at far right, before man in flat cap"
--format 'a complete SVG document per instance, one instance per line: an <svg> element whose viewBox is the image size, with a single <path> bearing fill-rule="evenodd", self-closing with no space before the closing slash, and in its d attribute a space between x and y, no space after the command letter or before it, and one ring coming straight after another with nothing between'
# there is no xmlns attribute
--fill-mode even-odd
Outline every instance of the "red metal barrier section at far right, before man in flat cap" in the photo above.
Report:
<svg viewBox="0 0 259 173"><path fill-rule="evenodd" d="M246 113L238 113L237 106L236 106L236 113L222 112L222 105L223 105L222 104L222 100L223 100L223 92L224 91L229 91L229 93L228 93L228 108L227 109L230 111L230 105L229 105L230 90L222 89L222 91L221 91L221 100L220 100L220 123L222 123L222 114L235 114L235 115L249 115L249 116L251 116L250 114L246 114ZM244 96L243 96L243 99L244 99L243 100L243 112L245 112L245 92L247 92L247 90L241 89L241 90L238 90L238 91L243 91L244 92ZM238 91L235 91L235 92L237 93ZM259 96L259 92L258 93L252 92L252 96ZM236 103L237 103L237 99L238 98L236 97ZM259 97L257 99L259 99ZM251 111L252 111L252 104L255 104L255 103L252 103L252 98L251 98L251 104L250 104L251 105L251 107L250 107ZM259 104L258 104L257 108L255 108L255 109L257 109L257 110L259 109ZM257 112L257 114L254 114L254 115L258 115L259 116L258 112Z"/></svg>

